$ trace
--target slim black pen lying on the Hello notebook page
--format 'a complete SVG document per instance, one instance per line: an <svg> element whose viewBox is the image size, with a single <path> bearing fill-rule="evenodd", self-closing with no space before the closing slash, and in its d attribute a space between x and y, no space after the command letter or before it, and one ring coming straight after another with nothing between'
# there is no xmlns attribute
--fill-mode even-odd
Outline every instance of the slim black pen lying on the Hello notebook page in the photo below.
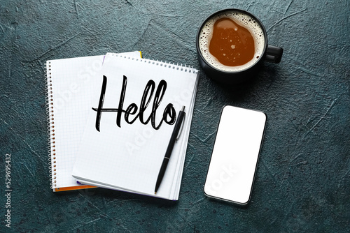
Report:
<svg viewBox="0 0 350 233"><path fill-rule="evenodd" d="M164 159L163 159L162 166L160 167L160 171L159 171L159 174L158 174L157 182L155 183L154 194L157 193L157 190L158 190L158 188L160 186L160 183L162 182L163 176L165 174L165 170L167 170L167 165L168 165L168 162L169 162L169 158L172 155L174 144L175 144L175 142L176 142L176 140L178 138L179 131L180 131L180 128L181 128L182 123L183 123L183 119L185 118L185 114L186 113L183 112L184 110L185 110L185 106L182 106L182 109L179 112L178 119L177 119L177 121L175 123L175 126L174 126L174 131L172 133L172 137L170 137L170 141L169 141L169 144L168 144L167 151L165 152L165 156L164 156Z"/></svg>

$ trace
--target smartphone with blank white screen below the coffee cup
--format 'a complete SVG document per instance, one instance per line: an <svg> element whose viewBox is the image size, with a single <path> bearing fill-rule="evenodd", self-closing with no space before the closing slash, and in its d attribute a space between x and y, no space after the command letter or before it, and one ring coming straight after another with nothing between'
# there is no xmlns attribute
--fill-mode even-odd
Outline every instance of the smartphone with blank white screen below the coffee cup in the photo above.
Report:
<svg viewBox="0 0 350 233"><path fill-rule="evenodd" d="M236 204L247 204L258 164L266 114L225 106L221 112L204 193Z"/></svg>

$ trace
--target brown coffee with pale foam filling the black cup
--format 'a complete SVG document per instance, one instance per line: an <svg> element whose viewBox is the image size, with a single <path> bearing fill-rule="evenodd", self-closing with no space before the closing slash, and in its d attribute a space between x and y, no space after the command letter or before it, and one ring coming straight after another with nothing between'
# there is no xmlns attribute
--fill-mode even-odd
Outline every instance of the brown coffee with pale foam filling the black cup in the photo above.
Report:
<svg viewBox="0 0 350 233"><path fill-rule="evenodd" d="M265 37L253 17L230 10L205 22L198 43L202 56L211 66L230 72L253 66L264 52Z"/></svg>

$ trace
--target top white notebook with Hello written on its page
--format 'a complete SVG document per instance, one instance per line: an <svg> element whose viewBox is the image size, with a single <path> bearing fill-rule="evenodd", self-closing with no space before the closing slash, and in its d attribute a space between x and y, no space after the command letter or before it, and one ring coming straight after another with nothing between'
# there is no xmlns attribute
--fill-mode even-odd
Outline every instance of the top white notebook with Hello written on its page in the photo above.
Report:
<svg viewBox="0 0 350 233"><path fill-rule="evenodd" d="M197 70L106 54L72 175L80 183L178 200ZM155 183L181 107L186 117L155 195ZM99 111L100 110L100 111Z"/></svg>

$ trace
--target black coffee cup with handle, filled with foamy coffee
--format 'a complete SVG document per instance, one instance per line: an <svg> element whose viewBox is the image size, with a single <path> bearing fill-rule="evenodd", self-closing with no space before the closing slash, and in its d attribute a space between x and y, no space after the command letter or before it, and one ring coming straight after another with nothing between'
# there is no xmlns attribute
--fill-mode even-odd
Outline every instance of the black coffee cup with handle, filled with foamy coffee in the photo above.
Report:
<svg viewBox="0 0 350 233"><path fill-rule="evenodd" d="M232 8L204 20L197 32L197 54L213 80L237 84L254 77L263 61L279 63L283 49L267 44L265 27L257 17Z"/></svg>

